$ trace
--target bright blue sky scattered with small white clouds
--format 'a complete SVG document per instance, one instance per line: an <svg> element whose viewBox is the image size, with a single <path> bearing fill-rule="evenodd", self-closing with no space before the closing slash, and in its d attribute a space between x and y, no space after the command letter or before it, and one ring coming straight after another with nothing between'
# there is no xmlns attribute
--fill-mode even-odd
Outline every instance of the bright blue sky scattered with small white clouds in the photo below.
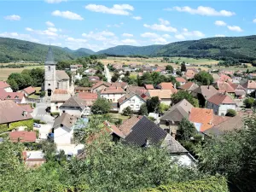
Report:
<svg viewBox="0 0 256 192"><path fill-rule="evenodd" d="M255 34L253 1L0 1L0 37L107 49Z"/></svg>

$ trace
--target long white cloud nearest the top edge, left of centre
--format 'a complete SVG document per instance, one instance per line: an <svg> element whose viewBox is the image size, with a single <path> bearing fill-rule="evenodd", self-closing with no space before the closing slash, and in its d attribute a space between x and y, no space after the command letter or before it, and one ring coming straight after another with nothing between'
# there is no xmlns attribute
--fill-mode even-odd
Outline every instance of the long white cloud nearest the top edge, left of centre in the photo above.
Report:
<svg viewBox="0 0 256 192"><path fill-rule="evenodd" d="M113 15L130 15L129 11L133 11L134 8L130 4L114 4L112 8L108 8L104 5L98 4L88 4L85 9L103 13L103 14L113 14Z"/></svg>

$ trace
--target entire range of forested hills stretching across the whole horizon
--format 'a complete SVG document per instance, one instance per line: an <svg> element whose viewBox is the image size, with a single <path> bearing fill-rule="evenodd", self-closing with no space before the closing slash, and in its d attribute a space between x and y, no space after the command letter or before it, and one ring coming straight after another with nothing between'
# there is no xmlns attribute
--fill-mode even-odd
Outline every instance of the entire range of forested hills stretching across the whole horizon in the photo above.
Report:
<svg viewBox="0 0 256 192"><path fill-rule="evenodd" d="M49 45L36 44L15 38L0 38L0 62L44 61ZM86 55L152 55L186 56L194 58L256 60L256 35L232 38L203 38L166 45L131 46L119 45L94 52L80 48L72 50L52 46L55 60L73 60Z"/></svg>

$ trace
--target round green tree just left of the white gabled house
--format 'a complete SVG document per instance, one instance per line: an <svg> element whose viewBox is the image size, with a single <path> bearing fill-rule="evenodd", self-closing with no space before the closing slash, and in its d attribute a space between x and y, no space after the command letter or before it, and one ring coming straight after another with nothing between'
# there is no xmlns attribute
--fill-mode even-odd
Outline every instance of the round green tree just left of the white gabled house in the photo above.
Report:
<svg viewBox="0 0 256 192"><path fill-rule="evenodd" d="M99 98L91 106L91 113L94 114L105 114L112 108L111 102L108 102L105 98Z"/></svg>

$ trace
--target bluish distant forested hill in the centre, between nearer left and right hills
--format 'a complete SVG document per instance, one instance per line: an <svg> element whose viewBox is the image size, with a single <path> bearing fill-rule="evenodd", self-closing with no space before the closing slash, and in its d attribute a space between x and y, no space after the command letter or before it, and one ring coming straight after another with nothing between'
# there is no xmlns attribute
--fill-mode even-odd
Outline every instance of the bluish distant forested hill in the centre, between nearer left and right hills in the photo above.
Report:
<svg viewBox="0 0 256 192"><path fill-rule="evenodd" d="M97 54L107 55L154 55L163 45L148 45L143 47L131 45L119 45L116 47L100 50Z"/></svg>

